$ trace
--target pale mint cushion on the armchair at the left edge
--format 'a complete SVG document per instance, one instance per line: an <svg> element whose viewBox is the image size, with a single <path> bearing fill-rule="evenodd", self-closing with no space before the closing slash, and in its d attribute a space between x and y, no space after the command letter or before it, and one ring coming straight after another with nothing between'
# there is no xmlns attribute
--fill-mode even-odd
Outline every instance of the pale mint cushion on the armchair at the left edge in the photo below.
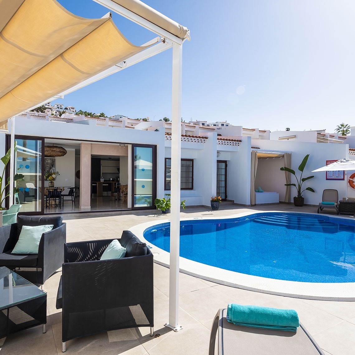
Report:
<svg viewBox="0 0 355 355"><path fill-rule="evenodd" d="M39 241L42 234L52 230L53 224L23 225L20 236L12 250L12 254L38 254Z"/></svg>

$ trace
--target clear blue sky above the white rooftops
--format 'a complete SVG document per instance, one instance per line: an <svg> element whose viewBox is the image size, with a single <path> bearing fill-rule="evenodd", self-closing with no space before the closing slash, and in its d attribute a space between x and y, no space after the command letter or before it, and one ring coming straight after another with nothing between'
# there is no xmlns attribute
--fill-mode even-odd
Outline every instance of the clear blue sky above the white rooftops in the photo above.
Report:
<svg viewBox="0 0 355 355"><path fill-rule="evenodd" d="M108 12L91 0L59 2L83 17ZM186 122L271 131L355 126L355 1L145 2L191 31L183 45ZM115 13L113 19L135 45L155 37ZM171 118L171 56L165 51L56 102L108 116Z"/></svg>

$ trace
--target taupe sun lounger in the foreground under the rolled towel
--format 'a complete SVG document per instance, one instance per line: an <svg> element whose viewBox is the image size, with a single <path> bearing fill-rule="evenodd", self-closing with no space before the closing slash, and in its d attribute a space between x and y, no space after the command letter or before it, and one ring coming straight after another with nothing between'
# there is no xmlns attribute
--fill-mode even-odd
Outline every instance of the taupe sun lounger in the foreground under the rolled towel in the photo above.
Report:
<svg viewBox="0 0 355 355"><path fill-rule="evenodd" d="M227 309L214 318L209 355L215 354L218 333L218 355L324 355L317 343L300 324L297 332L236 326L226 320Z"/></svg>

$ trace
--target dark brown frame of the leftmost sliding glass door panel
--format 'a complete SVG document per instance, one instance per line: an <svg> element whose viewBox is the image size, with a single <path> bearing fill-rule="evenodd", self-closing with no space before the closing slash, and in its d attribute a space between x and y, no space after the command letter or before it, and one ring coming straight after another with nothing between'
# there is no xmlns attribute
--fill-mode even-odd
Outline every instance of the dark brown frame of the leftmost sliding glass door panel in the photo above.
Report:
<svg viewBox="0 0 355 355"><path fill-rule="evenodd" d="M11 135L7 134L6 135L6 144L5 144L5 149L6 152L11 148ZM36 137L36 136L23 136L23 135L16 135L15 134L15 141L19 140L19 139L27 139L27 140L32 140L32 141L41 141L42 144L42 159L41 159L41 171L43 173L44 171L44 137ZM14 173L16 174L16 167L15 167L15 171ZM6 172L5 172L5 179L7 181L7 178L10 176L10 162L9 164L6 165ZM44 174L41 174L41 185L42 185L42 192L43 190L43 186L44 186ZM6 194L9 193L10 191L10 186L7 186L6 188ZM15 202L15 201L14 201ZM10 204L10 198L6 197L5 200L5 208L9 208ZM19 212L19 214L23 214L23 215L38 215L38 214L44 214L44 194L41 193L41 210L40 211L33 211L33 212Z"/></svg>

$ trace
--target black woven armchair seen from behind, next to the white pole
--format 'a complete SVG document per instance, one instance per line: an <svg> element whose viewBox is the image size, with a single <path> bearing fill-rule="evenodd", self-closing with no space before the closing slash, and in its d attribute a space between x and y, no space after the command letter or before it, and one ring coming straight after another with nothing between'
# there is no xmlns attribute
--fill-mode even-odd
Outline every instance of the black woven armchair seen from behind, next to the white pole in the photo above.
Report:
<svg viewBox="0 0 355 355"><path fill-rule="evenodd" d="M62 308L62 351L66 341L99 332L151 327L153 255L130 231L123 231L126 256L100 260L113 239L66 243L56 308Z"/></svg>

